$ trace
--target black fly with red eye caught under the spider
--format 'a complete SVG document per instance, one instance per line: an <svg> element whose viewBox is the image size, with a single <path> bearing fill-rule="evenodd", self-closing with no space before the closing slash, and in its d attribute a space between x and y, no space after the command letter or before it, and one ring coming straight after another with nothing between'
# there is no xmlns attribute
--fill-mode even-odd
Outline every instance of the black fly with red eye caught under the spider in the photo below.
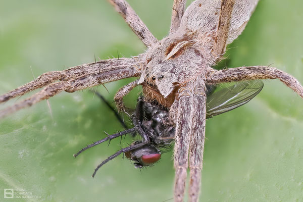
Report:
<svg viewBox="0 0 303 202"><path fill-rule="evenodd" d="M260 80L242 81L227 84L227 86L207 86L207 88L206 118L208 119L249 102L249 100L254 98L262 90L263 82ZM102 96L99 95L99 97L104 100ZM106 102L106 100L104 101ZM115 114L117 115L116 112ZM117 117L119 118L119 116ZM161 152L170 147L174 141L175 127L174 124L170 122L169 109L157 103L146 102L144 97L139 97L131 119L134 125L133 128L108 135L108 137L89 144L78 151L77 154L74 154L74 157L77 157L82 151L90 147L128 133L137 133L142 137L141 140L132 142L130 146L120 149L99 164L94 170L92 177L94 177L101 166L116 158L121 153L124 153L127 159L134 162L135 168L153 165L160 160ZM121 119L119 119L119 121L121 122Z"/></svg>

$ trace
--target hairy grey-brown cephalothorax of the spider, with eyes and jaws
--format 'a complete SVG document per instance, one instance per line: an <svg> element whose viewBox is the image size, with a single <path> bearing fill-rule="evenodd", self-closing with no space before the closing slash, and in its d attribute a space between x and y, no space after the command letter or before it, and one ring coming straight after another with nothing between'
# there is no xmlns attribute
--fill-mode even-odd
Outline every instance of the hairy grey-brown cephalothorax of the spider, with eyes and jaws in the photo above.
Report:
<svg viewBox="0 0 303 202"><path fill-rule="evenodd" d="M170 107L180 84L208 66L199 49L186 35L169 36L148 49L146 66L138 81L147 99Z"/></svg>

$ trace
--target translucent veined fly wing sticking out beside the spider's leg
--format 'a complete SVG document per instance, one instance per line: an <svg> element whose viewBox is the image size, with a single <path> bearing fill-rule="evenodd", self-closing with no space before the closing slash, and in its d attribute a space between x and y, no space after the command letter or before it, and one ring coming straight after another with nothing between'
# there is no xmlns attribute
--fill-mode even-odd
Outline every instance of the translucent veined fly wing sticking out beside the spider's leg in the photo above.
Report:
<svg viewBox="0 0 303 202"><path fill-rule="evenodd" d="M261 80L235 82L233 85L217 86L207 96L206 118L240 107L254 98L263 88Z"/></svg>

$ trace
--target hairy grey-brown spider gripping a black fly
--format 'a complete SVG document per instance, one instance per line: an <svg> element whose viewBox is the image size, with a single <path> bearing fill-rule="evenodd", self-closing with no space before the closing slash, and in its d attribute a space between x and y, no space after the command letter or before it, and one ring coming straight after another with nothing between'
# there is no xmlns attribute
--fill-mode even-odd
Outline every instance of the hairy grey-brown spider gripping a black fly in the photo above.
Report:
<svg viewBox="0 0 303 202"><path fill-rule="evenodd" d="M117 107L121 111L126 110L123 96L138 84L142 85L147 99L156 99L161 105L170 107L171 121L176 124L174 198L175 201L183 200L189 166L189 200L197 201L205 140L206 83L277 78L301 97L303 87L294 77L268 66L220 71L211 68L222 59L226 45L243 31L258 1L196 0L184 12L186 1L174 0L170 34L161 41L149 32L127 2L110 2L148 47L146 53L131 59L103 60L44 73L34 81L0 96L0 103L3 103L46 86L1 111L0 118L64 90L74 92L127 77L140 77L117 92ZM57 80L61 82L53 83Z"/></svg>

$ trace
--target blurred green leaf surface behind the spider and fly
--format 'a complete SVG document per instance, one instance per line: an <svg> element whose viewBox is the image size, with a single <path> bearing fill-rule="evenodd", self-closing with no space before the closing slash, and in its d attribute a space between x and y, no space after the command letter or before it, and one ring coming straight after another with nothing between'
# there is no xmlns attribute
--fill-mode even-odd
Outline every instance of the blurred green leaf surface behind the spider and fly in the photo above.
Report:
<svg viewBox="0 0 303 202"><path fill-rule="evenodd" d="M129 1L161 39L172 1ZM261 0L220 66L275 66L303 83L303 3ZM131 57L144 50L123 19L104 0L2 1L0 94L46 71L100 59ZM97 90L112 102L125 79ZM141 91L125 98L134 106ZM17 102L11 100L1 109ZM122 156L90 176L120 149L119 140L87 150L84 145L123 128L88 90L61 93L0 120L0 189L23 188L37 201L164 201L173 197L172 153L154 167L134 169ZM303 102L277 80L265 81L249 104L207 121L200 201L303 201ZM125 117L126 118L126 117ZM132 141L126 137L122 147ZM0 191L3 193L3 191ZM15 199L36 201L36 199ZM0 194L0 201L6 201ZM172 201L168 200L168 201Z"/></svg>

